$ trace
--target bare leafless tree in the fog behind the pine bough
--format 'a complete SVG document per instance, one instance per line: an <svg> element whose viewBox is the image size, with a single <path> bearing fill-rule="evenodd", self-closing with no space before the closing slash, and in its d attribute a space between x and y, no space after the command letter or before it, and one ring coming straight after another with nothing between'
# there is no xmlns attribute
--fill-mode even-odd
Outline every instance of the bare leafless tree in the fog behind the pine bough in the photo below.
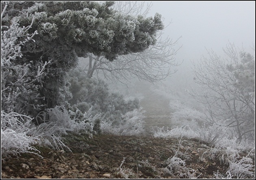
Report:
<svg viewBox="0 0 256 180"><path fill-rule="evenodd" d="M145 2L122 1L116 2L113 8L125 14L146 16L152 3L145 6ZM132 78L143 79L149 82L161 81L176 72L173 69L178 65L174 56L178 49L174 49L177 41L167 37L162 39L163 32L158 32L155 45L143 52L119 56L113 62L104 56L90 54L88 58L81 58L80 64L87 77L102 77L111 81L129 81Z"/></svg>

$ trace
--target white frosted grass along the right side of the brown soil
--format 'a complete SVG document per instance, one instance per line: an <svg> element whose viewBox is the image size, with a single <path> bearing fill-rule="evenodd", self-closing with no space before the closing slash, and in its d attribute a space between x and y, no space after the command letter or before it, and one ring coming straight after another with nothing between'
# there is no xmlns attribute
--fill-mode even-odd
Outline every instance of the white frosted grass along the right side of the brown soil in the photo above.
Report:
<svg viewBox="0 0 256 180"><path fill-rule="evenodd" d="M227 127L223 124L214 124L208 128L193 130L186 127L174 128L165 131L158 128L154 132L154 137L187 137L198 138L202 142L213 144L212 148L204 152L201 157L208 156L211 159L219 160L221 163L229 165L225 175L215 172L214 178L255 178L255 166L252 158L255 158L255 144L247 141L237 141L236 138L228 138ZM179 146L182 143L179 140ZM180 158L179 148L174 150L175 155L167 160L166 171L169 174L186 178L196 178L195 171L185 167L185 162ZM246 157L241 157L240 152L247 153ZM184 154L184 153L183 153ZM187 154L184 154L186 157ZM187 156L188 157L188 156Z"/></svg>

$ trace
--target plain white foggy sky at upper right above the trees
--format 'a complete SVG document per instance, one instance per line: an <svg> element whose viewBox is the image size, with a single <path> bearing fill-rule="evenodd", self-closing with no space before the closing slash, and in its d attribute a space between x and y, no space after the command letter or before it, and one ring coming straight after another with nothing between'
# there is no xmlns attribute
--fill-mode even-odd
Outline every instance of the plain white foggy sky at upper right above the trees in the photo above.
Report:
<svg viewBox="0 0 256 180"><path fill-rule="evenodd" d="M255 1L153 1L148 16L156 12L165 25L172 22L165 35L174 40L182 36L177 60L200 59L206 49L221 55L228 41L254 52L250 46L255 45Z"/></svg>

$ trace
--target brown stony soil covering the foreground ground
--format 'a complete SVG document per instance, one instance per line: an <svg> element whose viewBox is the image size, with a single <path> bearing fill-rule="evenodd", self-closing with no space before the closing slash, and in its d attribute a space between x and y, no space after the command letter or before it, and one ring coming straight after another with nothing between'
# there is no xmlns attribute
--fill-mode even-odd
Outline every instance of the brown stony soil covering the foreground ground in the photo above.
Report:
<svg viewBox="0 0 256 180"><path fill-rule="evenodd" d="M198 178L213 178L213 172L225 174L227 166L208 159L203 153L210 147L189 139L94 135L68 136L72 152L39 148L40 158L22 154L2 161L1 178L187 178L166 171L166 160L178 152L186 167L195 169ZM118 169L124 160L121 168ZM125 171L126 170L126 171Z"/></svg>

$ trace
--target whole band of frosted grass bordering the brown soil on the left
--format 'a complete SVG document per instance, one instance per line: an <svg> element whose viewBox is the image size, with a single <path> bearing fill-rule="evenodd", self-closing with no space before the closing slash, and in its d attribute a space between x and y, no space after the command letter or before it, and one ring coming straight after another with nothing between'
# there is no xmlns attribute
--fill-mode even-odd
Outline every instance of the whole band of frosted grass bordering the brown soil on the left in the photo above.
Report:
<svg viewBox="0 0 256 180"><path fill-rule="evenodd" d="M46 112L37 116L37 120L43 123L35 126L31 122L32 118L28 116L1 111L1 155L9 157L24 152L39 152L33 148L34 144L71 151L63 143L62 136L67 132L79 133L81 130L91 135L95 132L95 124L101 118L100 114L93 116L91 110L84 116L85 119L82 122L77 122L76 119L70 119L64 106L56 106L46 109Z"/></svg>

